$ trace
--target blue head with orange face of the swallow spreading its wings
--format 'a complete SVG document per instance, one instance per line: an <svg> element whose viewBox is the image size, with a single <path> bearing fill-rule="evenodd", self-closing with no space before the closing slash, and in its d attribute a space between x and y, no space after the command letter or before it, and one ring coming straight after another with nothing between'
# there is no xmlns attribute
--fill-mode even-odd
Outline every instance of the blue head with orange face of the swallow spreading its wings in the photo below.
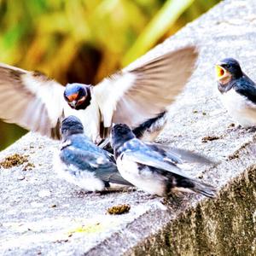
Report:
<svg viewBox="0 0 256 256"><path fill-rule="evenodd" d="M64 91L64 98L71 108L78 110L85 109L90 105L90 85L67 84Z"/></svg>

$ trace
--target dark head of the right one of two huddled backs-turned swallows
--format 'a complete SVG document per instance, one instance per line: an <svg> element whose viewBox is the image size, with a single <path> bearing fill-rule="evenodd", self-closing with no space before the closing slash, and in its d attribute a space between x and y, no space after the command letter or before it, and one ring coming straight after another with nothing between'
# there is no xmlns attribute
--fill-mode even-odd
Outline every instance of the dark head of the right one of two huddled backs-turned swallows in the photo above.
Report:
<svg viewBox="0 0 256 256"><path fill-rule="evenodd" d="M111 144L113 149L119 148L125 142L135 137L130 127L125 124L113 125L111 130Z"/></svg>

